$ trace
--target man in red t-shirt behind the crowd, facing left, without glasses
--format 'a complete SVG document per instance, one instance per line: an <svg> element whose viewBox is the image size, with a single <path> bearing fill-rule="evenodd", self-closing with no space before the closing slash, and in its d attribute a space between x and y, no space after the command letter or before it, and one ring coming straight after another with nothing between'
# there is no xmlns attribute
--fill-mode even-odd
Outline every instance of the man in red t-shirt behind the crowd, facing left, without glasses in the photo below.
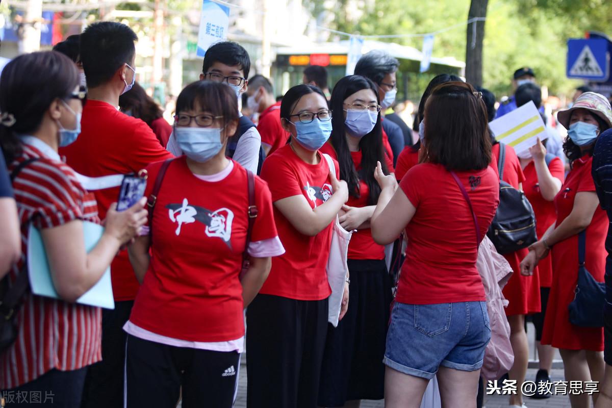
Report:
<svg viewBox="0 0 612 408"><path fill-rule="evenodd" d="M276 102L272 83L263 75L255 75L248 81L248 107L259 113L257 130L266 157L278 147L285 146L289 133L280 124L280 102Z"/></svg>

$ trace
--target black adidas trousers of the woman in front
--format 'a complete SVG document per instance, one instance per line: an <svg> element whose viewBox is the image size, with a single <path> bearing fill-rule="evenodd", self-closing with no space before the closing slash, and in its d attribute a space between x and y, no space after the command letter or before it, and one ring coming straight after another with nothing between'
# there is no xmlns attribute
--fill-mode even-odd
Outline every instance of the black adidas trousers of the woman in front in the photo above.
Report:
<svg viewBox="0 0 612 408"><path fill-rule="evenodd" d="M240 354L174 347L127 336L125 390L128 408L231 408Z"/></svg>

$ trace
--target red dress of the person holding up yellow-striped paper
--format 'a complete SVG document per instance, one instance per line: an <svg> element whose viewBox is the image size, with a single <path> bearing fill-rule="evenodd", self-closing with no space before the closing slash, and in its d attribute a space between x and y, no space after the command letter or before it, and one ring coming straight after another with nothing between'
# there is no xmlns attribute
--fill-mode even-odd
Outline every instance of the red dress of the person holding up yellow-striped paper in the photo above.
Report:
<svg viewBox="0 0 612 408"><path fill-rule="evenodd" d="M560 158L556 157L551 160L550 163L548 163L548 169L553 177L563 182L565 168ZM538 239L541 239L547 229L557 220L554 202L546 201L542 197L533 160L529 161L529 164L525 166L523 174L525 176L523 191L529 202L531 202L531 206L534 207L535 230ZM540 277L540 287L550 287L553 281L553 261L550 254L537 264L537 269Z"/></svg>

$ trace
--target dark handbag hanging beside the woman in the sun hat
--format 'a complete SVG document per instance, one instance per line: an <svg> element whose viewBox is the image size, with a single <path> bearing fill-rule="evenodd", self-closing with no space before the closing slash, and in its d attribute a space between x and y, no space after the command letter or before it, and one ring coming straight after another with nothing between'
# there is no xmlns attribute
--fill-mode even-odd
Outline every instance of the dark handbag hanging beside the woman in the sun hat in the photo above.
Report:
<svg viewBox="0 0 612 408"><path fill-rule="evenodd" d="M586 232L578 234L578 283L574 300L567 307L570 323L580 327L603 327L603 309L606 304L606 285L593 278L584 266Z"/></svg>

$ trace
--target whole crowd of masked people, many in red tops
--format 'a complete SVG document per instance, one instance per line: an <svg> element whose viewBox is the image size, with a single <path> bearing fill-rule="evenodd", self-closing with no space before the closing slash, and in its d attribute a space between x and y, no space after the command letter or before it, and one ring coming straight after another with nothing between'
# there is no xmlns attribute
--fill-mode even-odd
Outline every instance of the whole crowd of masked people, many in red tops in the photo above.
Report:
<svg viewBox="0 0 612 408"><path fill-rule="evenodd" d="M136 83L136 40L124 24L94 23L2 70L6 407L36 404L41 391L57 407L231 407L244 351L249 408L383 398L422 407L434 378L442 406L481 407L492 379L481 373L485 353L502 344L507 322L507 378L519 385L509 406L523 408L528 320L535 382L550 382L559 349L565 380L598 382L595 406L612 406L612 109L603 95L581 88L556 118L542 111L544 136L515 152L488 123L542 107L529 68L514 73L514 95L497 110L487 89L435 76L408 126L387 112L399 64L383 51L332 87L323 67L308 67L277 100L268 78L249 78L241 45L218 42L170 125ZM118 210L119 184L98 184L129 174L146 178L144 195ZM504 189L531 203L525 228L537 238L499 248L513 272L499 321L477 261L499 232L490 226ZM91 223L104 229L86 248ZM352 236L332 305L338 228ZM56 297L28 283L33 229ZM83 302L108 267L114 308ZM575 305L586 274L608 285L589 308ZM582 324L589 314L599 320ZM549 396L545 387L535 395ZM591 406L587 393L569 400Z"/></svg>

